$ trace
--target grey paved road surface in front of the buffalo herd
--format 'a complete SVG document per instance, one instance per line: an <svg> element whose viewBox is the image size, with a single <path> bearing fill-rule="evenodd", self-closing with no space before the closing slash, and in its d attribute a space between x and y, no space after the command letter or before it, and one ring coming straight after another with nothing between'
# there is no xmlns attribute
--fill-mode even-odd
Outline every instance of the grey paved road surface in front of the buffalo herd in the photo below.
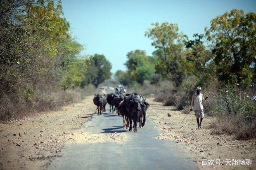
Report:
<svg viewBox="0 0 256 170"><path fill-rule="evenodd" d="M106 106L109 108L109 105ZM152 137L161 133L147 118L145 127L138 133L122 128L122 117L109 113L85 123L84 131L91 133L126 133L128 141L98 144L70 144L62 149L62 157L56 158L49 170L196 170L197 166L182 149L171 141Z"/></svg>

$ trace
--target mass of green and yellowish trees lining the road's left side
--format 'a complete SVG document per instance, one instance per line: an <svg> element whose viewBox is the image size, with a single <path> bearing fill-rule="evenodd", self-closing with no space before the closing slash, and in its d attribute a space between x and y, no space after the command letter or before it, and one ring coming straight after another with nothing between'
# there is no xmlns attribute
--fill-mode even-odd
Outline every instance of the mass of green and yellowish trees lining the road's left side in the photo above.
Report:
<svg viewBox="0 0 256 170"><path fill-rule="evenodd" d="M81 56L84 47L69 33L61 0L2 0L0 14L0 101L18 103L19 110L45 98L47 90L99 84L110 77L106 59L100 66L102 57ZM0 111L11 115L10 110Z"/></svg>

